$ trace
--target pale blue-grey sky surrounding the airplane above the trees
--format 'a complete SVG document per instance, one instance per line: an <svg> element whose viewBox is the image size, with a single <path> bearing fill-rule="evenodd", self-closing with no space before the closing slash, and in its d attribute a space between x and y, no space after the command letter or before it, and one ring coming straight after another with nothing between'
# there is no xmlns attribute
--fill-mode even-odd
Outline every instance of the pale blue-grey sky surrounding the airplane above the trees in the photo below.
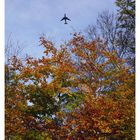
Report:
<svg viewBox="0 0 140 140"><path fill-rule="evenodd" d="M115 12L115 0L6 0L6 39L12 33L14 40L24 43L28 54L41 54L39 37L45 34L60 44L70 33L95 24L98 13ZM64 13L71 19L60 21Z"/></svg>

